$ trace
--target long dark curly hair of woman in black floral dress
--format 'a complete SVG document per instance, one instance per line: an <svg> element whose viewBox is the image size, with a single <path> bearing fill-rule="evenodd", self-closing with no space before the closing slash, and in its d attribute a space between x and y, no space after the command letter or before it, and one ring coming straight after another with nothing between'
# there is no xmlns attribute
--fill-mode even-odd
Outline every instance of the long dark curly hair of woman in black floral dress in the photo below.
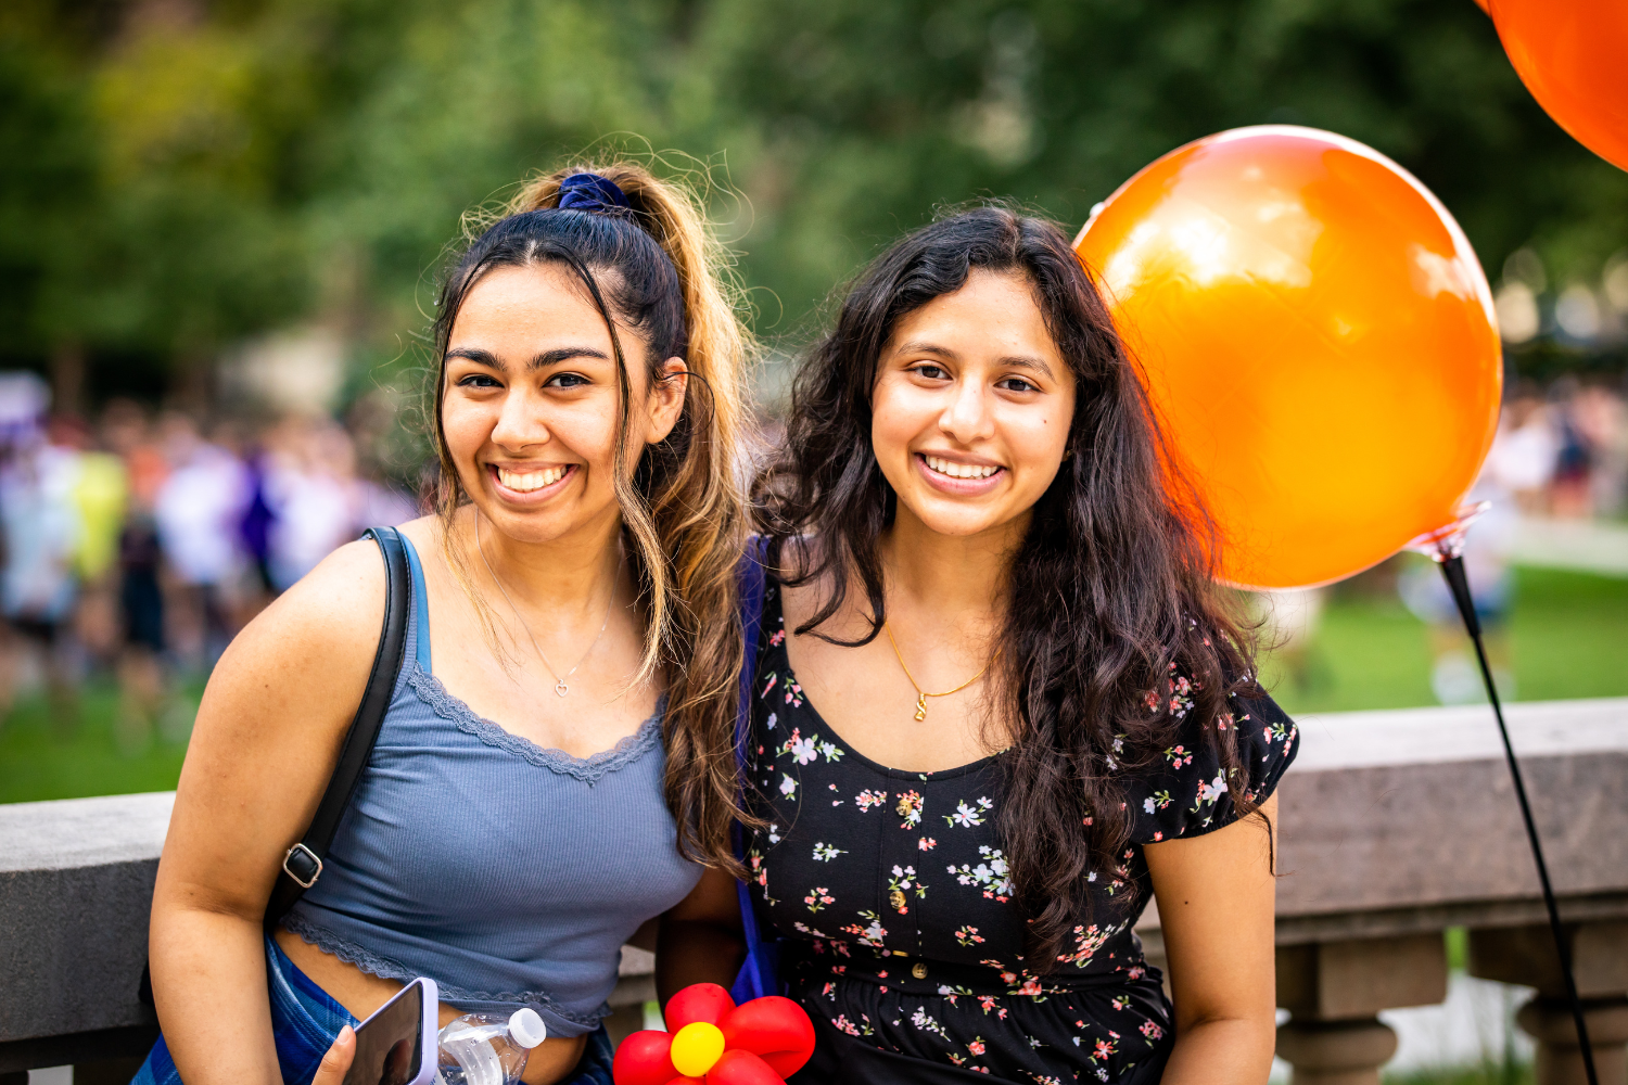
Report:
<svg viewBox="0 0 1628 1085"><path fill-rule="evenodd" d="M895 495L871 449L877 361L905 314L954 293L974 270L1017 275L1074 374L1074 416L1057 478L1035 503L1006 574L993 711L1011 747L1000 763L1000 828L1029 919L1026 958L1057 966L1063 935L1089 913L1086 880L1122 864L1130 834L1120 776L1171 745L1171 683L1193 685L1192 712L1224 719L1254 685L1252 630L1213 589L1218 538L1169 455L1133 361L1088 270L1055 223L980 207L917 229L850 286L835 329L793 384L783 451L754 483L757 527L786 584L822 586L796 633L866 594L871 628L886 600L877 543ZM1205 726L1229 779L1236 729ZM1236 792L1244 792L1242 787ZM1234 794L1239 815L1254 810Z"/></svg>

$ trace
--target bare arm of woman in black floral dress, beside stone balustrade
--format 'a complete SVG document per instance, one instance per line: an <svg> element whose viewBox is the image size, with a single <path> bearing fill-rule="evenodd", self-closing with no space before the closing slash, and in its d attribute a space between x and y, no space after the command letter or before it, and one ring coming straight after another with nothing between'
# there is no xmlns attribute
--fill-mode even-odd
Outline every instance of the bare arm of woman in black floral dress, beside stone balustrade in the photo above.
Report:
<svg viewBox="0 0 1628 1085"><path fill-rule="evenodd" d="M1276 833L1276 795L1260 813ZM1144 848L1175 999L1164 1085L1265 1085L1271 1072L1275 848L1260 815Z"/></svg>

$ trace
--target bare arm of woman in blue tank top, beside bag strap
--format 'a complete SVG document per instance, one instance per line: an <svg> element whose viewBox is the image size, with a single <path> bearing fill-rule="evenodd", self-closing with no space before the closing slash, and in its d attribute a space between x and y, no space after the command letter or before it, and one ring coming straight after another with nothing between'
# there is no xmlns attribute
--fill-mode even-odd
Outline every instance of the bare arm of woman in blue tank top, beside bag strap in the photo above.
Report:
<svg viewBox="0 0 1628 1085"><path fill-rule="evenodd" d="M148 935L158 1018L187 1085L282 1082L265 904L332 776L383 613L379 550L350 543L233 639L204 691ZM348 1067L344 1048L329 1070Z"/></svg>

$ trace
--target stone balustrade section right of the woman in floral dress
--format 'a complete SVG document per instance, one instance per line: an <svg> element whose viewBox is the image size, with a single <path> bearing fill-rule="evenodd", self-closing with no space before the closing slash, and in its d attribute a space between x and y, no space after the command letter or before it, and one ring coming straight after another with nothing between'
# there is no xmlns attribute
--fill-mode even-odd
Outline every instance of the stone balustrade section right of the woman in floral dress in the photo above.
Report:
<svg viewBox="0 0 1628 1085"><path fill-rule="evenodd" d="M1512 704L1602 1085L1628 1080L1628 698ZM1278 1054L1296 1085L1372 1085L1395 1052L1379 1010L1441 1002L1442 930L1468 971L1537 987L1517 1022L1538 1085L1581 1085L1537 872L1485 706L1299 721L1280 791Z"/></svg>

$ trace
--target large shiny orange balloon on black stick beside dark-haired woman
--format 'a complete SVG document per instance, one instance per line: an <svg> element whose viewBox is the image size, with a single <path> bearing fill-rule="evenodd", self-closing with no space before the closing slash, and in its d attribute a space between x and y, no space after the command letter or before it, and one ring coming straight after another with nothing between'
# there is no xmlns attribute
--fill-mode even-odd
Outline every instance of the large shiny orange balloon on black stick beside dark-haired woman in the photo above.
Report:
<svg viewBox="0 0 1628 1085"><path fill-rule="evenodd" d="M1076 241L1221 576L1301 587L1451 524L1498 425L1468 239L1405 169L1314 129L1237 129L1127 181Z"/></svg>

